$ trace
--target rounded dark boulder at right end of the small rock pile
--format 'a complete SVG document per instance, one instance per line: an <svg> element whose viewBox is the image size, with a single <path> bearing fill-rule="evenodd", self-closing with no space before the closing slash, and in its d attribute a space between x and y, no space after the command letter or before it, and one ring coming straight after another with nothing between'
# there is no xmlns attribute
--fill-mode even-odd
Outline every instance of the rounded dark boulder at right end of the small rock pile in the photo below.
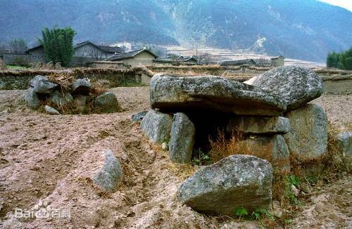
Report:
<svg viewBox="0 0 352 229"><path fill-rule="evenodd" d="M112 92L102 93L94 101L94 109L100 113L113 113L118 111L118 98Z"/></svg>

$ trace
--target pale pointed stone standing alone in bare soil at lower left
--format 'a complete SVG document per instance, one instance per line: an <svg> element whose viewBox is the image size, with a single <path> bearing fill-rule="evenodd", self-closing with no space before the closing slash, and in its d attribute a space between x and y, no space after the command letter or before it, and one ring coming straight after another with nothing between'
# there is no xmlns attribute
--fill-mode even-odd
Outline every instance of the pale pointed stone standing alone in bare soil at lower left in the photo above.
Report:
<svg viewBox="0 0 352 229"><path fill-rule="evenodd" d="M113 151L105 150L104 156L105 162L94 176L94 183L107 192L112 192L122 183L122 167L118 158L113 154Z"/></svg>

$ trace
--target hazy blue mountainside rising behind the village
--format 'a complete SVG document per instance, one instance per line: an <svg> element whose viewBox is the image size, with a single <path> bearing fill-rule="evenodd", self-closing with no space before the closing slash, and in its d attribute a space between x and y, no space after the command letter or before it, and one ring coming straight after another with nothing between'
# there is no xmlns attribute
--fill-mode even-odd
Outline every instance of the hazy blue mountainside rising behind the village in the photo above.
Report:
<svg viewBox="0 0 352 229"><path fill-rule="evenodd" d="M352 13L316 0L0 0L0 41L33 44L70 25L76 41L211 46L325 62L352 46Z"/></svg>

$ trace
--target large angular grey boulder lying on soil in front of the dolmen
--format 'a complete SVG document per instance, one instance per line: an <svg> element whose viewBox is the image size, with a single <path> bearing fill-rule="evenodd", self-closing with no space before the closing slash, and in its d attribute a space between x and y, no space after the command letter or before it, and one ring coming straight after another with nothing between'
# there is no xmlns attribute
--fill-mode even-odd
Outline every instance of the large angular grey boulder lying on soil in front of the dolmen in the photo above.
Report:
<svg viewBox="0 0 352 229"><path fill-rule="evenodd" d="M211 215L234 215L267 209L272 199L272 166L258 157L232 155L204 166L187 178L177 192L180 201Z"/></svg>

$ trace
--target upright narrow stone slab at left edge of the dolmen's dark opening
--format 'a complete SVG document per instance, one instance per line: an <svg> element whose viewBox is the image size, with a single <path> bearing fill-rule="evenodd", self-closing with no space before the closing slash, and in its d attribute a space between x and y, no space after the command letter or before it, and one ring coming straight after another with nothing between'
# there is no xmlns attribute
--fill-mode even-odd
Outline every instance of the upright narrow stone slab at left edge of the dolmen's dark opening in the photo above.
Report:
<svg viewBox="0 0 352 229"><path fill-rule="evenodd" d="M169 143L169 157L171 162L191 162L195 131L194 124L186 114L174 114Z"/></svg>

